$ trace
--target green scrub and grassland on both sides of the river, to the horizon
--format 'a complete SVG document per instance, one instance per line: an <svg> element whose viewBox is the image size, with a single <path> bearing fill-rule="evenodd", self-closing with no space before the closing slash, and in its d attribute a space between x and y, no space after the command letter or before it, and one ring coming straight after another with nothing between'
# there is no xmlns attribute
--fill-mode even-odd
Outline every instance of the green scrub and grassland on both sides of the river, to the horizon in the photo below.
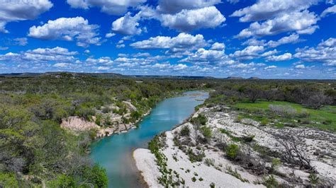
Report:
<svg viewBox="0 0 336 188"><path fill-rule="evenodd" d="M232 105L242 116L269 126L335 131L335 81L106 77L49 73L0 78L0 187L106 187L105 170L88 158L96 132L73 134L60 127L62 120L75 116L108 127L104 114L113 112L123 117L122 123L136 122L157 102L184 90L214 90L206 105ZM128 112L125 104L136 110ZM296 114L270 113L269 105L289 105ZM301 117L303 110L306 117ZM202 131L211 136L206 127Z"/></svg>

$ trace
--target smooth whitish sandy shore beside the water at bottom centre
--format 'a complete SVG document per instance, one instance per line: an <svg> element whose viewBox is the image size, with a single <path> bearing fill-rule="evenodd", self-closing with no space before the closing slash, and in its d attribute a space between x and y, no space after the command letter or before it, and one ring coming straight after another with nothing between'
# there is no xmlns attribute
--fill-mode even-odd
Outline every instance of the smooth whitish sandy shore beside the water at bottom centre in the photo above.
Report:
<svg viewBox="0 0 336 188"><path fill-rule="evenodd" d="M260 184L242 182L232 175L216 170L213 167L208 167L204 163L191 163L188 155L174 146L172 131L167 131L166 134L168 147L164 148L162 152L168 159L168 167L179 173L180 177L185 180L186 187L209 187L211 183L214 183L215 187L264 187ZM179 156L178 161L174 160L174 156ZM216 157L220 158L220 156ZM155 162L155 156L148 149L138 148L133 152L133 158L135 158L136 166L149 187L163 187L157 181L161 174ZM186 172L186 170L190 170L190 172ZM244 175L245 178L251 181L255 179L247 173ZM196 179L202 178L203 180L193 182L193 177L196 177Z"/></svg>

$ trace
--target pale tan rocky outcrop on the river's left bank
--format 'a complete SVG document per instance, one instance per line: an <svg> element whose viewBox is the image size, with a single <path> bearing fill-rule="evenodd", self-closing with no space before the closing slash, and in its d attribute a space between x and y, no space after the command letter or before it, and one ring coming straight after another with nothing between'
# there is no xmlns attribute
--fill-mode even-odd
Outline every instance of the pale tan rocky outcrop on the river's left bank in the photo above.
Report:
<svg viewBox="0 0 336 188"><path fill-rule="evenodd" d="M127 110L128 110L128 112L124 115L113 113L112 112L113 109L118 110L118 107L113 104L107 106L111 109L111 112L102 113L101 110L98 111L99 113L103 115L103 117L108 117L110 119L111 125L108 127L101 127L98 124L96 124L95 123L96 117L92 117L92 121L89 122L89 121L86 121L84 118L77 117L77 116L72 116L66 119L62 119L61 127L63 129L72 131L72 133L74 134L79 134L80 132L83 132L83 131L89 131L91 129L95 129L97 138L100 138L103 136L111 136L112 134L123 133L130 129L135 129L136 128L135 124L137 122L130 123L130 124L124 124L123 117L129 118L130 112L137 110L137 108L128 101L123 101L123 103L126 105ZM147 113L143 114L143 116L147 115Z"/></svg>

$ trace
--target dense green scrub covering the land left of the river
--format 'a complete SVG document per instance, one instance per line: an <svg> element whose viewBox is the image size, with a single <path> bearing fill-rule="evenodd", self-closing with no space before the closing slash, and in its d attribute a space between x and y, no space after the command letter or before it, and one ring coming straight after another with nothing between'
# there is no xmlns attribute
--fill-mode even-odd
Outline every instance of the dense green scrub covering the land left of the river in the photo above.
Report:
<svg viewBox="0 0 336 188"><path fill-rule="evenodd" d="M0 78L0 86L0 187L106 187L105 170L87 156L95 133L74 135L61 129L62 119L94 121L111 104L124 114L121 101L129 101L137 111L124 121L135 121L159 100L201 84L46 74Z"/></svg>

